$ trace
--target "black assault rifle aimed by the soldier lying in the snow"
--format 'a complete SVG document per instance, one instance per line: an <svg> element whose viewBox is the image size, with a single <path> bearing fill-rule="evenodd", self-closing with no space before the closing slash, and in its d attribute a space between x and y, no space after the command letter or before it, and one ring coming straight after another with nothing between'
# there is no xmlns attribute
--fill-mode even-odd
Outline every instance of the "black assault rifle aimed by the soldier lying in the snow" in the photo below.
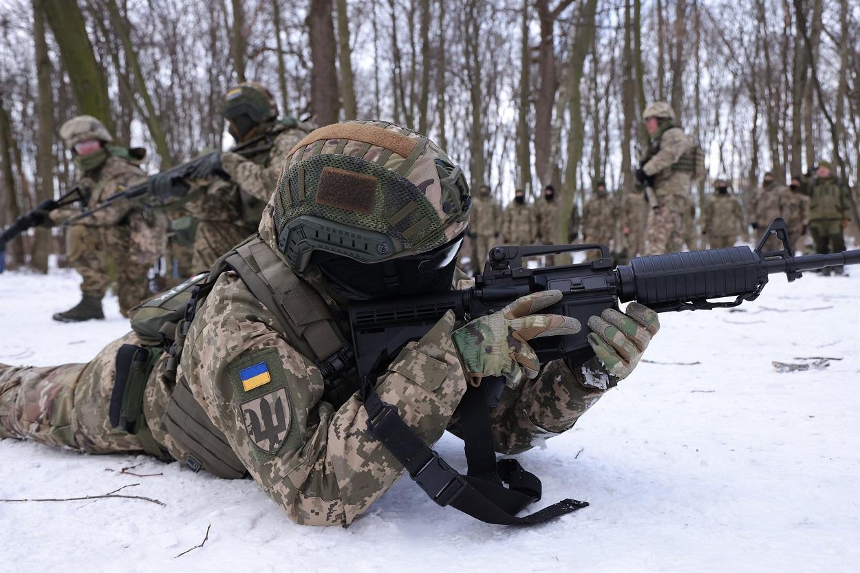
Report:
<svg viewBox="0 0 860 573"><path fill-rule="evenodd" d="M763 251L771 234L782 242L782 250ZM494 247L472 288L351 304L349 319L359 375L370 375L389 364L407 342L424 336L449 310L465 323L526 294L552 289L562 292L562 300L541 312L575 317L582 324L588 317L631 300L657 312L711 310L757 299L770 274L785 273L792 281L805 270L860 264L860 250L793 256L790 245L785 221L777 218L755 250L745 245L640 256L617 267L613 267L605 245ZM528 256L585 250L599 250L600 258L544 268L526 268L523 264ZM724 297L734 300L712 300ZM588 329L583 328L574 335L536 338L529 344L542 364L560 358L581 363L593 356L587 336Z"/></svg>

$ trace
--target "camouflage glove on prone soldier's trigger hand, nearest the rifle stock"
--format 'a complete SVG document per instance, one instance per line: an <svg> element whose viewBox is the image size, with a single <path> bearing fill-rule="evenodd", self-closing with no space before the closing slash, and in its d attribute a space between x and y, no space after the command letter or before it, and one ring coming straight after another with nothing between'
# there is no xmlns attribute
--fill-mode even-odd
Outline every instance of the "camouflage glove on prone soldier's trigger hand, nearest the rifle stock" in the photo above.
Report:
<svg viewBox="0 0 860 573"><path fill-rule="evenodd" d="M484 376L501 376L513 387L523 379L535 378L540 370L537 354L528 345L532 338L575 334L580 321L557 314L534 314L555 305L561 291L543 291L516 299L501 311L476 318L453 334L471 383Z"/></svg>

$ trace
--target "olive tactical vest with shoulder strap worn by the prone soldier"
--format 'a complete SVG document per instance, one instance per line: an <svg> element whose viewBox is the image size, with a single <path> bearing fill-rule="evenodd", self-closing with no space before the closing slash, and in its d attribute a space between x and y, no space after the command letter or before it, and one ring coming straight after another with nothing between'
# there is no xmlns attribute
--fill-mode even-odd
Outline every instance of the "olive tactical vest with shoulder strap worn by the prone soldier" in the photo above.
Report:
<svg viewBox="0 0 860 573"><path fill-rule="evenodd" d="M332 404L336 410L359 389L359 384L352 346L342 335L340 325L331 316L328 305L257 235L249 237L235 250L218 259L209 273L195 275L167 293L132 309L129 313L132 330L146 344L153 345L145 348L148 354L140 354L146 357L150 372L155 363L151 348L157 348L157 355L162 351L169 353L164 377L173 393L162 422L170 437L187 454L186 465L194 471L202 467L219 478L235 479L243 478L246 474L244 465L224 434L215 428L206 410L194 398L187 380L184 377L176 379L185 338L194 315L218 276L227 270L236 271L255 298L272 312L275 329L292 348L316 364L324 379L323 400ZM120 354L125 356L130 352ZM135 403L135 400L140 403L143 397L142 385L145 385L150 372L141 373L140 367L132 370L125 367L120 371L120 354L112 404ZM135 364L132 360L132 366ZM118 422L126 418L140 418L139 408L129 409L134 412L132 414L126 414L125 411L117 407L115 417ZM138 434L141 429L144 434L148 434L145 424L132 426L120 423L114 424L114 427L117 425L132 434ZM146 451L159 455L149 448Z"/></svg>

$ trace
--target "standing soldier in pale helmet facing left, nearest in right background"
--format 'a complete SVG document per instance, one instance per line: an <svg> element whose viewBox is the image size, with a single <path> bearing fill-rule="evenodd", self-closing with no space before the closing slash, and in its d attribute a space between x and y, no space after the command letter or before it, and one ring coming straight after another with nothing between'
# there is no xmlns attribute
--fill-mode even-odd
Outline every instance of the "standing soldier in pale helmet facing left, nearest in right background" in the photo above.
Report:
<svg viewBox="0 0 860 573"><path fill-rule="evenodd" d="M648 255L681 250L684 217L695 169L693 143L675 126L675 112L667 102L654 102L642 112L650 143L639 158L636 179L647 189L648 224L645 252Z"/></svg>

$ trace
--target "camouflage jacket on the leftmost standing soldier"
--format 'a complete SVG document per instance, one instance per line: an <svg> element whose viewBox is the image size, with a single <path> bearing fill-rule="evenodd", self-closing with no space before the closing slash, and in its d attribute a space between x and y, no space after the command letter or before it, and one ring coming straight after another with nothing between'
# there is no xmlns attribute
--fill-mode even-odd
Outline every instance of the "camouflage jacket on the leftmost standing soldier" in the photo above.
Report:
<svg viewBox="0 0 860 573"><path fill-rule="evenodd" d="M146 174L143 169L140 169L138 162L124 157L110 156L98 169L83 176L79 184L89 189L89 201L86 207L93 209L99 206L102 200L120 192L122 188L144 180L145 177ZM118 200L111 206L81 219L76 225L91 227L120 225L134 211L139 211L136 201ZM51 212L51 221L55 225L61 225L79 214L81 212L77 209L64 207Z"/></svg>

